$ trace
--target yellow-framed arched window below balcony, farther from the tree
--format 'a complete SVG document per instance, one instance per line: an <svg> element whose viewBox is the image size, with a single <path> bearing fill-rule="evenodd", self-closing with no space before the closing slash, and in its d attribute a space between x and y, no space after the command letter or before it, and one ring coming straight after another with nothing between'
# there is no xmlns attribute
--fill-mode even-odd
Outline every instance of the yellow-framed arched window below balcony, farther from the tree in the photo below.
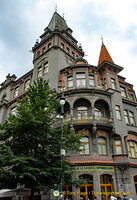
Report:
<svg viewBox="0 0 137 200"><path fill-rule="evenodd" d="M98 152L99 155L107 155L107 143L103 137L98 138Z"/></svg>

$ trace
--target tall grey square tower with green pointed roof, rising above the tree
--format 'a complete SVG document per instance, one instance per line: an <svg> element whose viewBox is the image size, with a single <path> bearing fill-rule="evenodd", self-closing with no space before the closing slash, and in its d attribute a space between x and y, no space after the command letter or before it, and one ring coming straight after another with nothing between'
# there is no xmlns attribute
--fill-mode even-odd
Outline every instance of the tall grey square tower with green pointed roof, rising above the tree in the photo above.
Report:
<svg viewBox="0 0 137 200"><path fill-rule="evenodd" d="M65 19L55 12L40 36L40 42L37 40L32 48L33 80L43 77L51 88L58 90L59 71L64 66L71 65L77 57L84 56L77 43Z"/></svg>

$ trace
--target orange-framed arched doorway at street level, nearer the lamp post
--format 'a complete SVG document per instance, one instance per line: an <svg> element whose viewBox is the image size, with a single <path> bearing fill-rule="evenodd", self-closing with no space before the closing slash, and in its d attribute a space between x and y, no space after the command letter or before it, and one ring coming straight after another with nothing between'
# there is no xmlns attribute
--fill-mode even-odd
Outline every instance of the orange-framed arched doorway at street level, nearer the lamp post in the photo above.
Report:
<svg viewBox="0 0 137 200"><path fill-rule="evenodd" d="M83 200L88 198L93 200L93 176L84 174L79 176L79 178L83 180L83 184L79 185L79 198L83 197Z"/></svg>

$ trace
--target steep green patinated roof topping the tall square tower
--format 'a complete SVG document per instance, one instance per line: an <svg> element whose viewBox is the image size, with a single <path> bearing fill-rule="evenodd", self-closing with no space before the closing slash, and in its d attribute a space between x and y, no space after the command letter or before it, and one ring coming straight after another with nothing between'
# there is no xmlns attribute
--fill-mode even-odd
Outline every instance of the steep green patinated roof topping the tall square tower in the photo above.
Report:
<svg viewBox="0 0 137 200"><path fill-rule="evenodd" d="M50 20L48 28L52 31L54 31L55 29L62 31L68 29L68 26L64 18L62 18L57 12L55 12Z"/></svg>

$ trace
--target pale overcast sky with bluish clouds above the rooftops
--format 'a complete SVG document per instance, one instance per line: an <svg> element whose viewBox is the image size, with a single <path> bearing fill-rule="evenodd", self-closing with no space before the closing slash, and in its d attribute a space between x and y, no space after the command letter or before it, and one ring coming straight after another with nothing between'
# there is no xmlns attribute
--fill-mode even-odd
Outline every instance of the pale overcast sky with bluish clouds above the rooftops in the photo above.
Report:
<svg viewBox="0 0 137 200"><path fill-rule="evenodd" d="M120 73L137 92L137 0L0 0L0 83L33 68L30 52L55 11L97 65L101 35Z"/></svg>

